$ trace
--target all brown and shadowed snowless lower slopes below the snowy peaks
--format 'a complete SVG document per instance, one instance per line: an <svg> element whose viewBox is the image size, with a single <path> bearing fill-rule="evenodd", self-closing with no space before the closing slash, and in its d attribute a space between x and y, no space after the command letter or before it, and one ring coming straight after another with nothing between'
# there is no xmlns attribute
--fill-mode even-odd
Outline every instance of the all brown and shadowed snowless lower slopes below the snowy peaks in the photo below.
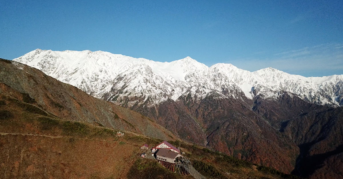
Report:
<svg viewBox="0 0 343 179"><path fill-rule="evenodd" d="M276 100L183 95L153 108L134 106L182 139L303 177L339 176L342 108L280 92ZM316 162L314 162L316 161ZM308 163L311 163L310 165ZM328 170L323 169L328 168Z"/></svg>

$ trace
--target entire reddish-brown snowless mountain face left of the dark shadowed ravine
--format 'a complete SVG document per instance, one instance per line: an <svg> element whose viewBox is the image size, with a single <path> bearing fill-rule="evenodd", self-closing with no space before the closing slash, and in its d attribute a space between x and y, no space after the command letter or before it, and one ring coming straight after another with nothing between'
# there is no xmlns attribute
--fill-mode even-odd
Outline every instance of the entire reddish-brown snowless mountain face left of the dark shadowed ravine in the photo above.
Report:
<svg viewBox="0 0 343 179"><path fill-rule="evenodd" d="M252 111L251 100L245 100L223 99L214 93L197 101L184 95L176 102L167 100L155 107L131 109L186 141L290 173L299 154L297 146Z"/></svg>

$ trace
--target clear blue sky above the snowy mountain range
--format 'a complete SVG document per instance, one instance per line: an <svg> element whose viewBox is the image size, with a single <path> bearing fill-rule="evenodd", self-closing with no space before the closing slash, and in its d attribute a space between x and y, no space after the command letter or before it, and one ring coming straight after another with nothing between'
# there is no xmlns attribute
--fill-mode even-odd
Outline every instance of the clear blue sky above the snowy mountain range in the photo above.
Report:
<svg viewBox="0 0 343 179"><path fill-rule="evenodd" d="M343 74L343 1L0 1L0 58L35 49Z"/></svg>

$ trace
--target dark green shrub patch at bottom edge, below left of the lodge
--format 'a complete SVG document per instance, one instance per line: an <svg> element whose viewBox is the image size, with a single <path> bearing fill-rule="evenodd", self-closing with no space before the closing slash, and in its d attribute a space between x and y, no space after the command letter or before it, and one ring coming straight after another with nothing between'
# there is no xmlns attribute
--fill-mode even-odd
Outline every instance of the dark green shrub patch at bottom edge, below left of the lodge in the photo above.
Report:
<svg viewBox="0 0 343 179"><path fill-rule="evenodd" d="M131 166L127 178L132 179L179 179L182 178L176 173L163 167L161 164L157 163L155 160L149 159L137 159Z"/></svg>

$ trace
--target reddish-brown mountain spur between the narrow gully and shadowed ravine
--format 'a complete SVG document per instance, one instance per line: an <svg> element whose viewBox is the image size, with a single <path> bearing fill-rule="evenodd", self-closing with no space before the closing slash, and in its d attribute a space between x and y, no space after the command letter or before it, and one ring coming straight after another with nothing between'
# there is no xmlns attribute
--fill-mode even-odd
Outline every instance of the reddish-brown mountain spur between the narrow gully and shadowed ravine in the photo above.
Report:
<svg viewBox="0 0 343 179"><path fill-rule="evenodd" d="M251 111L248 104L209 96L201 101L197 119L206 127L208 147L284 172L292 170L296 146Z"/></svg>

